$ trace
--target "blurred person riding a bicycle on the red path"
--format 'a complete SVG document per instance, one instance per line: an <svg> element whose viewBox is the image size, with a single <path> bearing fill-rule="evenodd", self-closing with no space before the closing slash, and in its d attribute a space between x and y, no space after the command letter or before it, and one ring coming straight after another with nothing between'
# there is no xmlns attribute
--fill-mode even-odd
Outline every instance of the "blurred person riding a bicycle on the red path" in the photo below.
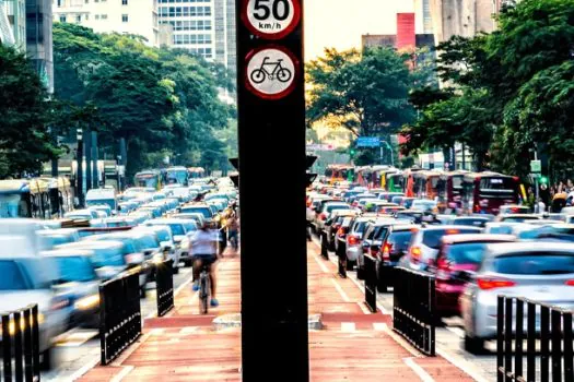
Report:
<svg viewBox="0 0 574 382"><path fill-rule="evenodd" d="M189 253L194 259L194 291L199 290L199 272L202 264L209 265L209 276L211 279L211 306L219 306L215 298L215 270L212 266L219 258L218 254L218 230L210 229L209 223L203 222L200 229L198 229L191 240L189 241Z"/></svg>

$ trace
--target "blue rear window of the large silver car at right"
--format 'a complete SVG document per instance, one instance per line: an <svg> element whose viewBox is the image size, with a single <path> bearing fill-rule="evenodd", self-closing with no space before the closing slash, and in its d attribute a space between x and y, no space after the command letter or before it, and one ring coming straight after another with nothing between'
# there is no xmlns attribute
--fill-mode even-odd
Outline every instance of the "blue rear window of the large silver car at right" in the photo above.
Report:
<svg viewBox="0 0 574 382"><path fill-rule="evenodd" d="M497 256L494 271L513 275L560 275L574 273L574 254L558 252L528 252Z"/></svg>

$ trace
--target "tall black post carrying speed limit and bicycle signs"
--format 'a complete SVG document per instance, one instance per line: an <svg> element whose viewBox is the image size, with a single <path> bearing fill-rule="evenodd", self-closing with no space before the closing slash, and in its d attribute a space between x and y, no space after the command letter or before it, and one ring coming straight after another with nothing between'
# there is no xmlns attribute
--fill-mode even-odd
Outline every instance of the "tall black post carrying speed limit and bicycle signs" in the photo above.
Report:
<svg viewBox="0 0 574 382"><path fill-rule="evenodd" d="M305 187L312 176L305 155L303 0L237 0L236 11L243 380L304 382ZM280 159L288 165L278 166ZM263 184L276 191L256 192ZM290 227L289 240L281 242L278 227L257 213L278 200Z"/></svg>

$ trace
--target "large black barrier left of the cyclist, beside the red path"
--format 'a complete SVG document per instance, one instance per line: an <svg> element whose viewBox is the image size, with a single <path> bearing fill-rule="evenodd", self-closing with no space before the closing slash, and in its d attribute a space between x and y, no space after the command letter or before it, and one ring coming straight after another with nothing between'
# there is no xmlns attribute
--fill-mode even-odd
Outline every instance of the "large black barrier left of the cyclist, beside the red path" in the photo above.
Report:
<svg viewBox="0 0 574 382"><path fill-rule="evenodd" d="M108 365L141 335L139 273L99 285L99 346Z"/></svg>

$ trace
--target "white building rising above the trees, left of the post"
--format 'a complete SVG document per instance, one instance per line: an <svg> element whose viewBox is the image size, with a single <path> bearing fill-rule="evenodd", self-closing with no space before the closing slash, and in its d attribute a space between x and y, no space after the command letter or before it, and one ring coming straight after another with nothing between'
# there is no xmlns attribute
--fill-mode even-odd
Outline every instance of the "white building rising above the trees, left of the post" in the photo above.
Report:
<svg viewBox="0 0 574 382"><path fill-rule="evenodd" d="M160 46L157 0L54 0L54 20L97 33L139 35Z"/></svg>

